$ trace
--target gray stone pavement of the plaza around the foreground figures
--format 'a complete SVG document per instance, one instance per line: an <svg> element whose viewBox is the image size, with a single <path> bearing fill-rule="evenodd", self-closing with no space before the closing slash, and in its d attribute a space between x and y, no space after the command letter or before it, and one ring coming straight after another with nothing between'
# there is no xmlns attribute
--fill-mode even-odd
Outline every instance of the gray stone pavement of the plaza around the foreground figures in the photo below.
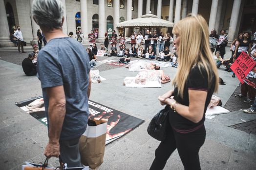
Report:
<svg viewBox="0 0 256 170"><path fill-rule="evenodd" d="M31 47L25 49L27 52L31 50ZM230 51L226 51L225 57L229 58ZM19 54L16 48L0 49L0 170L21 170L24 161L44 161L47 127L15 106L15 102L42 95L38 78L27 77L22 71L21 61L27 55ZM99 58L105 59L109 58ZM118 60L117 57L110 59ZM124 78L135 76L137 72L103 63L98 63L93 69L99 69L100 75L107 80L92 84L92 101L145 120L139 127L106 146L100 170L148 170L159 141L148 135L147 126L162 108L157 97L171 89L171 83L161 88L127 88L123 85ZM171 79L176 73L176 68L163 70ZM256 135L232 126L253 121L256 114L245 114L240 110L250 107L250 104L234 97L234 94L239 93L237 78L232 78L232 73L224 71L224 67L218 71L226 85L220 85L216 95L231 112L215 115L215 118L205 121L207 137L199 152L201 168L255 170ZM57 166L58 160L51 158L50 165ZM177 151L171 155L165 170L183 170Z"/></svg>

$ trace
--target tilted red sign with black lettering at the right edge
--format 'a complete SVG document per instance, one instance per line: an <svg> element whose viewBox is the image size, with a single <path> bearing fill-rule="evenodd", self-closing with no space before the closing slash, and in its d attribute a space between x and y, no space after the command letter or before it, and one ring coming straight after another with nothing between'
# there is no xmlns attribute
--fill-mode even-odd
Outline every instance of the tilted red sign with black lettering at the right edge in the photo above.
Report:
<svg viewBox="0 0 256 170"><path fill-rule="evenodd" d="M242 52L230 68L234 71L239 81L243 84L243 80L255 65L256 62L252 59L252 57L247 55L245 52Z"/></svg>

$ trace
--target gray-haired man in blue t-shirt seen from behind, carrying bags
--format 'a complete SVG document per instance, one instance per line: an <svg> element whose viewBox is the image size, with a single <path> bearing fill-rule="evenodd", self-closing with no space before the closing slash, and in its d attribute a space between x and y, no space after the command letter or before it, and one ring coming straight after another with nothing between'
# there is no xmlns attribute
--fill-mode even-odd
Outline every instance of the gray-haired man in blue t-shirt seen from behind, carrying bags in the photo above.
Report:
<svg viewBox="0 0 256 170"><path fill-rule="evenodd" d="M61 0L34 0L33 19L47 40L38 54L49 141L44 155L79 167L79 138L85 132L90 95L90 61L84 47L63 33Z"/></svg>

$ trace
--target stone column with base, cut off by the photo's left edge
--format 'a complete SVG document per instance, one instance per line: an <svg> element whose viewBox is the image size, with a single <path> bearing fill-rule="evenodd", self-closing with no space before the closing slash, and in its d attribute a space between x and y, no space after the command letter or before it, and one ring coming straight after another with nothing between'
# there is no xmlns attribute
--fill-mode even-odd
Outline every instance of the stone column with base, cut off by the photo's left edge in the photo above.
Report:
<svg viewBox="0 0 256 170"><path fill-rule="evenodd" d="M9 38L10 32L3 0L0 0L0 30L0 47L14 46Z"/></svg>

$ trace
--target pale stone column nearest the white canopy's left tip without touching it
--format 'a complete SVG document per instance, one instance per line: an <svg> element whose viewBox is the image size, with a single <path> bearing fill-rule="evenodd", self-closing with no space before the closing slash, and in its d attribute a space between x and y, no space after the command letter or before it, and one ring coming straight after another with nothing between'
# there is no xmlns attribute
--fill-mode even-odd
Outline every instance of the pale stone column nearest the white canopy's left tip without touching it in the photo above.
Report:
<svg viewBox="0 0 256 170"><path fill-rule="evenodd" d="M99 0L99 41L104 41L106 32L105 0Z"/></svg>

